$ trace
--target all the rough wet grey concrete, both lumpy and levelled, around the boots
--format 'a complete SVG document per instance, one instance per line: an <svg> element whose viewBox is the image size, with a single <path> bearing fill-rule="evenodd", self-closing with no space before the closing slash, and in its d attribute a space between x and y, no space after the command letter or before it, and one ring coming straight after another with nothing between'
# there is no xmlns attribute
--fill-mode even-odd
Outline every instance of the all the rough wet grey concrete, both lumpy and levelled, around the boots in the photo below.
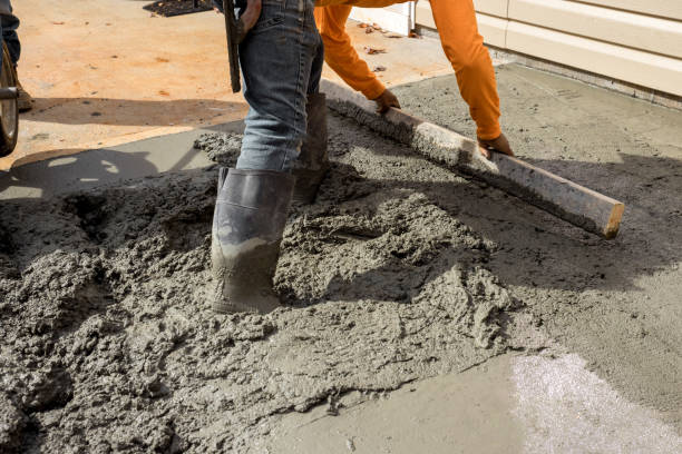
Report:
<svg viewBox="0 0 682 454"><path fill-rule="evenodd" d="M614 116L597 118L601 90L498 71L519 155L623 200L617 239L337 116L331 172L292 209L270 315L208 308L216 166L3 203L0 451L245 453L286 413L334 415L349 394L508 351L576 353L679 434L682 150L665 132L680 114L603 92ZM452 78L398 93L471 135ZM662 139L636 130L646 121ZM240 137L197 145L230 165Z"/></svg>

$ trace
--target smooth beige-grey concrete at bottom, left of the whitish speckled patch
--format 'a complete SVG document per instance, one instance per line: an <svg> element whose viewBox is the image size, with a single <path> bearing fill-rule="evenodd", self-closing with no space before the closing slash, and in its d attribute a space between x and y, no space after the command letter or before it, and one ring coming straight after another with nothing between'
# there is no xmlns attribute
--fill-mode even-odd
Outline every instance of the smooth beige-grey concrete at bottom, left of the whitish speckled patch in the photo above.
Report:
<svg viewBox="0 0 682 454"><path fill-rule="evenodd" d="M393 393L351 393L335 405L291 413L265 444L269 454L520 453L510 356ZM339 414L333 407L339 407Z"/></svg>

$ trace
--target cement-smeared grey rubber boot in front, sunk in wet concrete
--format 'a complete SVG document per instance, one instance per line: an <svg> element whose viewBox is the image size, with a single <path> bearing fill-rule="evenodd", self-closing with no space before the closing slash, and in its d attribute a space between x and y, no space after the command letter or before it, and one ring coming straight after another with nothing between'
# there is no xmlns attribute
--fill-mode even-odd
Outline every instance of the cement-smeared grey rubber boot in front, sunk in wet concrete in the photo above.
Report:
<svg viewBox="0 0 682 454"><path fill-rule="evenodd" d="M271 170L221 168L213 215L213 309L267 313L280 305L272 278L294 177Z"/></svg>

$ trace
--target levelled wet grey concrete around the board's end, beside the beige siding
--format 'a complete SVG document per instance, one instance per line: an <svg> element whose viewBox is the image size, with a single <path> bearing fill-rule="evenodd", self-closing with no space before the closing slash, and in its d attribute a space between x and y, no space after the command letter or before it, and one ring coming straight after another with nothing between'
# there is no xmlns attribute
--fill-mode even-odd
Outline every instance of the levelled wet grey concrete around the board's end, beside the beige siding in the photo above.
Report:
<svg viewBox="0 0 682 454"><path fill-rule="evenodd" d="M620 237L598 240L529 208L516 211L516 200L494 190L480 206L506 206L503 216L451 198L439 206L459 210L459 219L500 244L491 269L553 338L680 430L682 115L515 65L497 75L503 128L515 151L622 200ZM474 137L454 78L397 93L409 112Z"/></svg>

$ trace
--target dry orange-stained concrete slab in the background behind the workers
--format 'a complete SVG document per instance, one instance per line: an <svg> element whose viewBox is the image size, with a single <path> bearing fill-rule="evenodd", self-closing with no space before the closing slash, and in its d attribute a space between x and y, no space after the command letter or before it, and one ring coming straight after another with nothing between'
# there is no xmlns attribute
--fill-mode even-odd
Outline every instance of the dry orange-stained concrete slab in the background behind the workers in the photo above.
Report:
<svg viewBox="0 0 682 454"><path fill-rule="evenodd" d="M49 157L113 147L244 117L227 85L222 17L160 18L134 0L21 0L19 77L36 102L20 117L8 170ZM435 39L390 39L351 24L355 48L387 85L451 71ZM398 51L400 50L400 52ZM419 59L405 59L407 53ZM338 80L328 68L324 76Z"/></svg>

